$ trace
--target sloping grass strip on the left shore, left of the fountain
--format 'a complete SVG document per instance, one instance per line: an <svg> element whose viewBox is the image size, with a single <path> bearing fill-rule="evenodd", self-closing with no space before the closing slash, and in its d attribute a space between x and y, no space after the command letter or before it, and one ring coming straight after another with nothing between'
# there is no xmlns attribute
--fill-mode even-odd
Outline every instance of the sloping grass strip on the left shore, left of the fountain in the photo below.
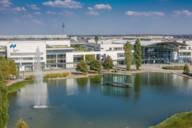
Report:
<svg viewBox="0 0 192 128"><path fill-rule="evenodd" d="M24 80L17 83L14 83L8 87L8 93L13 93L19 90L20 88L24 87L27 84L32 83L33 80Z"/></svg>

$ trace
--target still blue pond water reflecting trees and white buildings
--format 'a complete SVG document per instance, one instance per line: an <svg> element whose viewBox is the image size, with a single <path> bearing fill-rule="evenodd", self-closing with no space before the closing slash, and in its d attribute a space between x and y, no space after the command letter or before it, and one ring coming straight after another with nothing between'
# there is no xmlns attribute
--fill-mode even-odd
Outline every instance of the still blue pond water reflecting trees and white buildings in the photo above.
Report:
<svg viewBox="0 0 192 128"><path fill-rule="evenodd" d="M9 128L18 119L30 128L146 128L192 110L192 80L173 74L128 77L132 87L102 86L100 78L47 81L47 109L33 109L33 86L10 95Z"/></svg>

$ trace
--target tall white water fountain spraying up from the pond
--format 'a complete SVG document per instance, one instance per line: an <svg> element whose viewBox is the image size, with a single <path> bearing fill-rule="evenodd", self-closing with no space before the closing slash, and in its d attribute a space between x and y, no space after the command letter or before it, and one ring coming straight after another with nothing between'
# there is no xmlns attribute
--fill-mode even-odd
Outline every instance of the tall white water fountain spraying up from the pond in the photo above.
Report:
<svg viewBox="0 0 192 128"><path fill-rule="evenodd" d="M47 108L47 85L43 83L43 72L41 66L41 53L37 47L34 63L34 103L33 108Z"/></svg>

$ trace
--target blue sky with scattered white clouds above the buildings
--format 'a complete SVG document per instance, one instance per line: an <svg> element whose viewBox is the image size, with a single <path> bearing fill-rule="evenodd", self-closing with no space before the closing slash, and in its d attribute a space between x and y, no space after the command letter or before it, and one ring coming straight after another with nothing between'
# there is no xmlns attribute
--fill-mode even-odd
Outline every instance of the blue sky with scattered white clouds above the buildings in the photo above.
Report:
<svg viewBox="0 0 192 128"><path fill-rule="evenodd" d="M0 0L0 34L192 34L192 0Z"/></svg>

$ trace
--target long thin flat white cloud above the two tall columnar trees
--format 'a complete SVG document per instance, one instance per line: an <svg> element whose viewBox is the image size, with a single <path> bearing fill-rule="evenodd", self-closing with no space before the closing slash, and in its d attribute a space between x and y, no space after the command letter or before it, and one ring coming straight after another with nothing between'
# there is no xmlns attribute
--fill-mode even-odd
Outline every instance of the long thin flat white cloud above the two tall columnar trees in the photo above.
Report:
<svg viewBox="0 0 192 128"><path fill-rule="evenodd" d="M165 16L164 12L156 12L156 11L148 11L148 12L127 11L125 14L128 16Z"/></svg>

